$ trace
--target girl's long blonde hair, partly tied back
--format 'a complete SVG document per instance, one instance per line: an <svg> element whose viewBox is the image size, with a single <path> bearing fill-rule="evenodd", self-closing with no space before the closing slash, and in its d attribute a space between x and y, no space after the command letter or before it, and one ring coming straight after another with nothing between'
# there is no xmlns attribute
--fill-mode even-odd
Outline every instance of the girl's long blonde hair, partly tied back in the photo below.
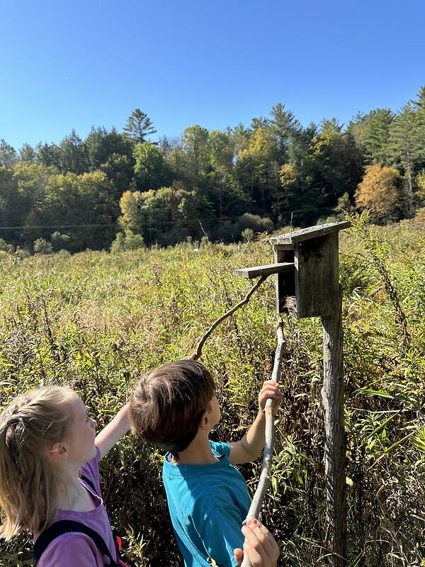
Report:
<svg viewBox="0 0 425 567"><path fill-rule="evenodd" d="M53 520L57 478L47 451L66 439L76 394L46 386L18 396L0 414L0 537L42 532Z"/></svg>

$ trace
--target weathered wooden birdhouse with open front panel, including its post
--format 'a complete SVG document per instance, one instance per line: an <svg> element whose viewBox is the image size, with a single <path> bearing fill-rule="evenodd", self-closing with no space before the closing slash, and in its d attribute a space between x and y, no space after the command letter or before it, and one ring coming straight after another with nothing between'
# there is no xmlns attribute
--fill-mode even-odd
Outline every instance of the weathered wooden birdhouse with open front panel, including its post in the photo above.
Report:
<svg viewBox="0 0 425 567"><path fill-rule="evenodd" d="M332 567L346 565L344 373L339 286L339 231L328 223L272 237L275 264L237 270L246 278L276 274L276 309L319 317L323 327L324 475L326 546Z"/></svg>

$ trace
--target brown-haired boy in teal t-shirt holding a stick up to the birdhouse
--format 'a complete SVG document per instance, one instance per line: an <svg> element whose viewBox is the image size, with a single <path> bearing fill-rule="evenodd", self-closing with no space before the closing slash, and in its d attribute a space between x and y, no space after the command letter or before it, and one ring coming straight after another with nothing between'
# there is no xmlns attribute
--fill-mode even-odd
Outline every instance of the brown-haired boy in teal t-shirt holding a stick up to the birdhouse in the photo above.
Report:
<svg viewBox="0 0 425 567"><path fill-rule="evenodd" d="M238 565L242 522L251 499L234 464L254 461L264 447L267 398L282 400L278 383L266 381L259 413L239 442L215 443L209 434L220 420L215 383L205 366L185 359L141 378L130 400L137 434L166 451L163 479L171 520L186 567Z"/></svg>

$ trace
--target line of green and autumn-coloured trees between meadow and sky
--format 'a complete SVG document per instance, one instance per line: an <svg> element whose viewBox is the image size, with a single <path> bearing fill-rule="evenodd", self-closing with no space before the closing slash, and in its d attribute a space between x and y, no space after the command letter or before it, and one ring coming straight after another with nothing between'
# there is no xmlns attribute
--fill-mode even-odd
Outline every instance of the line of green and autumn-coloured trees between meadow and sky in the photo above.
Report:
<svg viewBox="0 0 425 567"><path fill-rule="evenodd" d="M425 206L425 86L399 111L302 127L281 103L246 128L189 126L152 142L139 108L125 128L59 143L0 140L0 248L50 252L232 241L368 208L376 223Z"/></svg>

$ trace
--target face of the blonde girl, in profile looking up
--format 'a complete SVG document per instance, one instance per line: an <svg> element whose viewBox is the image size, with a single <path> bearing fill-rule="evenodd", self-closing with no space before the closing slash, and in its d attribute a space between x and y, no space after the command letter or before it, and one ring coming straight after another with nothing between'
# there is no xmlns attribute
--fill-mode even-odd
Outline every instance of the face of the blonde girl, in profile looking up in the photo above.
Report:
<svg viewBox="0 0 425 567"><path fill-rule="evenodd" d="M68 462L83 465L96 456L94 439L96 421L87 415L87 408L76 395L72 400L74 420L64 443L69 451Z"/></svg>

